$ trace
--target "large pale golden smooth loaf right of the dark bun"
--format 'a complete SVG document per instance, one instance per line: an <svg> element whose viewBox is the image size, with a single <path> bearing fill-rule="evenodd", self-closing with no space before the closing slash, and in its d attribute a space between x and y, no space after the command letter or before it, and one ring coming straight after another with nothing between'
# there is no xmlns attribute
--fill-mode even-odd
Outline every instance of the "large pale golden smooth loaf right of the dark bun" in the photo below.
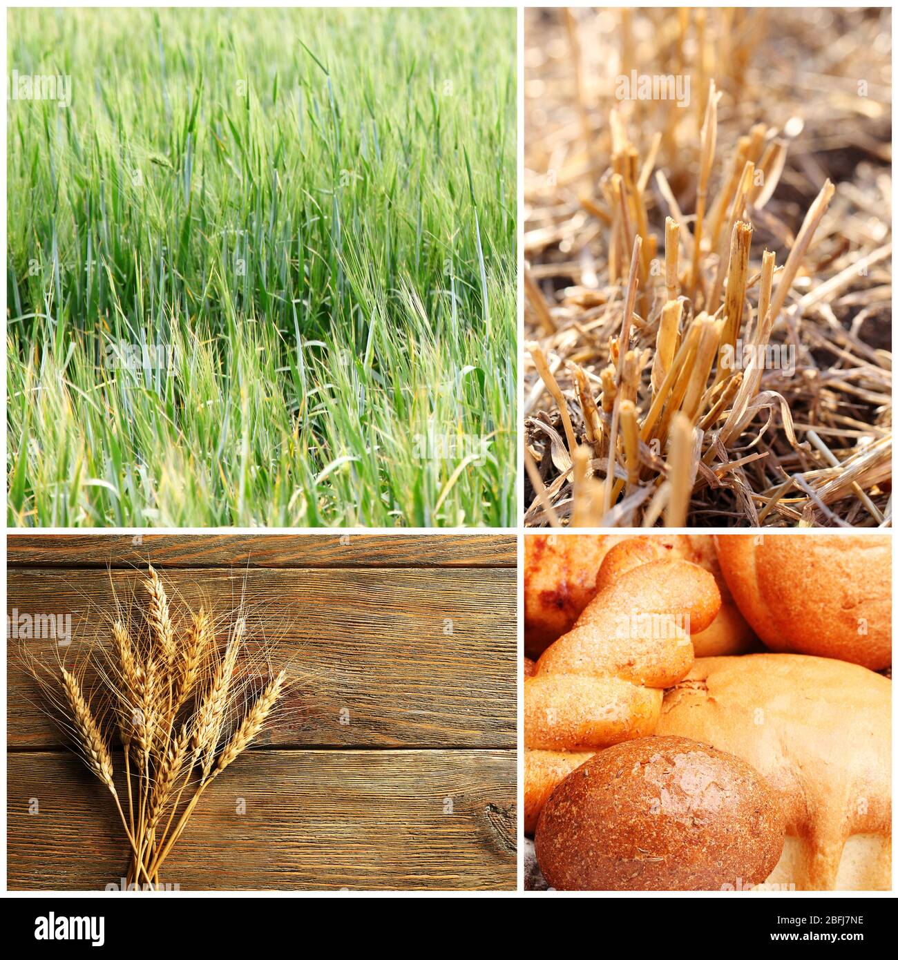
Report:
<svg viewBox="0 0 898 960"><path fill-rule="evenodd" d="M887 890L890 723L891 683L879 674L841 660L751 654L696 660L667 691L656 732L740 756L776 791L789 840L771 883Z"/></svg>

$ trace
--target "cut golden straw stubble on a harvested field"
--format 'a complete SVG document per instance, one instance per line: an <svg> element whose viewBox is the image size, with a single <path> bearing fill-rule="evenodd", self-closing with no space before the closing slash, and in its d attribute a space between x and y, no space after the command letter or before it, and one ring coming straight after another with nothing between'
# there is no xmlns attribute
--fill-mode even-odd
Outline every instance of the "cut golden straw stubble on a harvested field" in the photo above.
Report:
<svg viewBox="0 0 898 960"><path fill-rule="evenodd" d="M845 111L844 137L879 171L855 161L835 210L837 187L792 142L802 104L792 116L778 105L782 126L759 120L734 136L775 96L746 73L752 52L771 48L748 12L643 12L642 39L632 11L564 11L560 24L528 15L526 523L888 525L890 351L863 335L890 310L887 214L875 218L890 153L871 135L887 130L887 113L871 96L851 100L861 52L864 76L879 76L877 44L861 36L860 49L843 42L825 65L806 64L838 72L838 83L818 80L829 122ZM875 39L882 28L866 29ZM685 76L692 102L606 93L614 106L599 113L586 53L607 57L615 34L624 79L638 80L638 65ZM796 203L809 187L812 199ZM798 211L792 232L785 218Z"/></svg>

